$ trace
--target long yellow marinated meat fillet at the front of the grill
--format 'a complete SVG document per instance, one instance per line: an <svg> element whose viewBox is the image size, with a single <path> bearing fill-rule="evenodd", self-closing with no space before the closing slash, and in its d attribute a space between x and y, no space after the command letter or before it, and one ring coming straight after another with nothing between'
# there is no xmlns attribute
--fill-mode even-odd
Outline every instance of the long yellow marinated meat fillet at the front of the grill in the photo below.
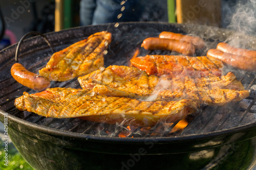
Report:
<svg viewBox="0 0 256 170"><path fill-rule="evenodd" d="M49 88L15 100L19 110L54 118L79 117L102 123L153 126L159 121L172 123L196 113L198 105L191 100L144 102L130 98L92 95L88 90Z"/></svg>

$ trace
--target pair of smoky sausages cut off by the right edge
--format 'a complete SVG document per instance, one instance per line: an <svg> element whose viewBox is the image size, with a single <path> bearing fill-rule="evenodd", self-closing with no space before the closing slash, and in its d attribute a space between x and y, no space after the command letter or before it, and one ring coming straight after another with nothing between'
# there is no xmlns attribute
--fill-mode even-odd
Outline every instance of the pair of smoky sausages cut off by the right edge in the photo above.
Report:
<svg viewBox="0 0 256 170"><path fill-rule="evenodd" d="M207 52L207 56L218 58L224 63L243 70L256 70L256 51L236 48L220 42L216 49L210 49Z"/></svg>

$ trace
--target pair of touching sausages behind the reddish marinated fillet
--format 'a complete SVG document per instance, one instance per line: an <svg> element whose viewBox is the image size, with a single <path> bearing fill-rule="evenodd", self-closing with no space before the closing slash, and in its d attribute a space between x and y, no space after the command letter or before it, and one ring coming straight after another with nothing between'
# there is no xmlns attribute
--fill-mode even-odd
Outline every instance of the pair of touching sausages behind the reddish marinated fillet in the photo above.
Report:
<svg viewBox="0 0 256 170"><path fill-rule="evenodd" d="M161 32L158 38L144 39L141 47L146 50L175 51L183 55L193 55L196 48L204 47L203 39L172 32Z"/></svg>

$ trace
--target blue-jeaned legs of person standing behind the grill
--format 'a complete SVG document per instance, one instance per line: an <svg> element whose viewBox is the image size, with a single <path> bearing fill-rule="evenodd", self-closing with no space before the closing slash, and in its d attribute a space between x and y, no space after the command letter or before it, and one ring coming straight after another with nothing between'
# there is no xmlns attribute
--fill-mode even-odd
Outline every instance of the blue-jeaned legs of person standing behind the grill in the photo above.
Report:
<svg viewBox="0 0 256 170"><path fill-rule="evenodd" d="M141 0L81 0L80 24L140 21L143 8Z"/></svg>

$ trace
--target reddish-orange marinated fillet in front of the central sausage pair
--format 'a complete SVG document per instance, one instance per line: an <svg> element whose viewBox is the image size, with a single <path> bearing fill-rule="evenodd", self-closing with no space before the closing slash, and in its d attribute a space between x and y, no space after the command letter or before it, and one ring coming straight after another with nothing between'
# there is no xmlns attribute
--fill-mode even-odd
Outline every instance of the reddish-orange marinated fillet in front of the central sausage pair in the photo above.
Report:
<svg viewBox="0 0 256 170"><path fill-rule="evenodd" d="M134 67L146 71L148 75L176 77L205 77L209 73L215 76L222 75L223 63L213 57L189 57L146 55L130 60Z"/></svg>

